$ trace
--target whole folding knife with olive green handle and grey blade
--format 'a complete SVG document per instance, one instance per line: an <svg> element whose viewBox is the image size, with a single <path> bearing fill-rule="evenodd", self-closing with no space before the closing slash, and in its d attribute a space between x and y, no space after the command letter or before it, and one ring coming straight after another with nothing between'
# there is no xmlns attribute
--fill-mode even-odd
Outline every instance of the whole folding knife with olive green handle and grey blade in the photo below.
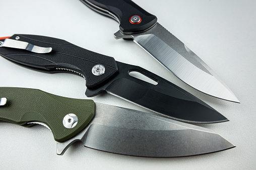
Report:
<svg viewBox="0 0 256 170"><path fill-rule="evenodd" d="M57 154L78 140L102 151L147 157L189 156L235 147L207 128L93 100L15 87L0 87L0 95L0 121L46 126L57 141Z"/></svg>

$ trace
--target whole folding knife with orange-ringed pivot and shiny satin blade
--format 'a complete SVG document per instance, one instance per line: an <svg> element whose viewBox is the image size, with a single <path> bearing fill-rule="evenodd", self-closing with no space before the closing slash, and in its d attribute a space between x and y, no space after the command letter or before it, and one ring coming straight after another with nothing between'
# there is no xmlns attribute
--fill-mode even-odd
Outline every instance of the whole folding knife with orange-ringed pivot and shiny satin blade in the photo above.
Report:
<svg viewBox="0 0 256 170"><path fill-rule="evenodd" d="M156 16L130 0L80 0L119 25L116 39L133 39L166 69L189 86L208 95L238 102L213 70L181 41L157 23Z"/></svg>

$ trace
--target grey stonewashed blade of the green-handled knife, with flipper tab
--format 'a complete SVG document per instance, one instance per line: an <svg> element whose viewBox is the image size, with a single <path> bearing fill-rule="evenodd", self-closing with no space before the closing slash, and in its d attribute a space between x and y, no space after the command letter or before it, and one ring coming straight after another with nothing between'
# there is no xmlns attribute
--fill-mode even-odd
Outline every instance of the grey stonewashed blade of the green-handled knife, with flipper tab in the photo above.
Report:
<svg viewBox="0 0 256 170"><path fill-rule="evenodd" d="M98 150L148 157L189 156L235 147L203 127L99 103L95 118L81 134L57 143L58 154L75 140Z"/></svg>

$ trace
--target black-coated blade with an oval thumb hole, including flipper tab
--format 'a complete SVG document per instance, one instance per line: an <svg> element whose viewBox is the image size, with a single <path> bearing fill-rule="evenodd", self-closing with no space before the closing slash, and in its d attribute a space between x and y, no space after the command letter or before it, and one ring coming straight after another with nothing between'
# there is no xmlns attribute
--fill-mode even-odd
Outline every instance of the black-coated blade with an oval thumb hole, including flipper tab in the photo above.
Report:
<svg viewBox="0 0 256 170"><path fill-rule="evenodd" d="M167 80L141 68L117 62L119 72L97 88L87 88L88 97L101 91L140 105L171 119L189 123L218 123L228 121L218 111ZM129 75L137 71L158 82L157 85Z"/></svg>

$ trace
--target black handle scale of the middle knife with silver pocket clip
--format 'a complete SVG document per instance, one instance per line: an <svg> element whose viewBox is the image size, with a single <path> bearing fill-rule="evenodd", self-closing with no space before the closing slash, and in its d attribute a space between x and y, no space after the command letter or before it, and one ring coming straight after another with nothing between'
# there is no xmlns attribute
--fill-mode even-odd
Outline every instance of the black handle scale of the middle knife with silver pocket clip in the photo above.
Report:
<svg viewBox="0 0 256 170"><path fill-rule="evenodd" d="M50 53L38 54L27 50L2 47L0 55L22 66L38 71L56 73L67 72L83 75L87 87L95 87L106 81L118 72L117 64L113 57L94 53L67 41L35 35L13 35L10 39L28 42L39 47L51 47ZM103 65L105 73L95 76L92 68ZM56 69L60 68L60 69Z"/></svg>

